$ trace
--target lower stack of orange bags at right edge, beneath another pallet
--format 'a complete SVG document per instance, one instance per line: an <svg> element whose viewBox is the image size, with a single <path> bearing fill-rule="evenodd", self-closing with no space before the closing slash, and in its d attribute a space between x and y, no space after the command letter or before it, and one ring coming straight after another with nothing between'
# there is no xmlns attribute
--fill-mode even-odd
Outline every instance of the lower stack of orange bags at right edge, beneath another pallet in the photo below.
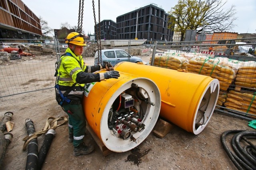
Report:
<svg viewBox="0 0 256 170"><path fill-rule="evenodd" d="M230 90L224 106L229 109L256 115L256 93Z"/></svg>

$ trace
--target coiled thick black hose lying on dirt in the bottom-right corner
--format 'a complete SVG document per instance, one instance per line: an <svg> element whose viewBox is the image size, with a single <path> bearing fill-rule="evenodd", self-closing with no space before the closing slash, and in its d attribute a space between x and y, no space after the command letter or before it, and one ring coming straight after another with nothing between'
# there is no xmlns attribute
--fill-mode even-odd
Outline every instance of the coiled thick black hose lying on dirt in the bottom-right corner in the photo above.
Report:
<svg viewBox="0 0 256 170"><path fill-rule="evenodd" d="M226 144L226 136L230 133L237 133L232 137L231 146L232 146L233 150L235 151L235 153L238 155L236 155L234 152L232 152ZM222 145L223 145L224 149L226 150L228 156L230 157L231 161L234 163L236 168L238 168L238 170L244 170L244 169L255 170L256 169L256 166L255 166L256 157L253 156L253 154L249 155L248 152L245 151L246 149L243 149L240 144L240 140L244 136L246 136L247 138L250 138L250 139L256 139L256 135L251 136L254 134L256 134L256 131L244 131L244 130L229 130L229 131L225 131L224 133L222 133L222 136L221 136ZM248 158L250 160L248 160Z"/></svg>

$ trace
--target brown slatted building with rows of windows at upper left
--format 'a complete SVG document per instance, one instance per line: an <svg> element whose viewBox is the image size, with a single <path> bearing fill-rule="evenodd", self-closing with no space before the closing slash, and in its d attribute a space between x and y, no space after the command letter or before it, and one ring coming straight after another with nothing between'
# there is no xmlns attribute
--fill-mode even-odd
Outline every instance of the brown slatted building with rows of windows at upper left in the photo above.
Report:
<svg viewBox="0 0 256 170"><path fill-rule="evenodd" d="M21 0L0 0L0 38L37 39L39 18Z"/></svg>

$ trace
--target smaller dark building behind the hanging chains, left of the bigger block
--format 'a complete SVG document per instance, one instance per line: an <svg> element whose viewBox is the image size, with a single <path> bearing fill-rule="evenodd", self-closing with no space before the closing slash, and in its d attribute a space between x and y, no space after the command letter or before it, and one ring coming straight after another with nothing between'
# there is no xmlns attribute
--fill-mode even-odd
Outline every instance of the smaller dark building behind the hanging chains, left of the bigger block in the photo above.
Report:
<svg viewBox="0 0 256 170"><path fill-rule="evenodd" d="M112 20L103 20L94 26L95 39L97 39L98 27L100 25L100 39L116 39L116 23Z"/></svg>

